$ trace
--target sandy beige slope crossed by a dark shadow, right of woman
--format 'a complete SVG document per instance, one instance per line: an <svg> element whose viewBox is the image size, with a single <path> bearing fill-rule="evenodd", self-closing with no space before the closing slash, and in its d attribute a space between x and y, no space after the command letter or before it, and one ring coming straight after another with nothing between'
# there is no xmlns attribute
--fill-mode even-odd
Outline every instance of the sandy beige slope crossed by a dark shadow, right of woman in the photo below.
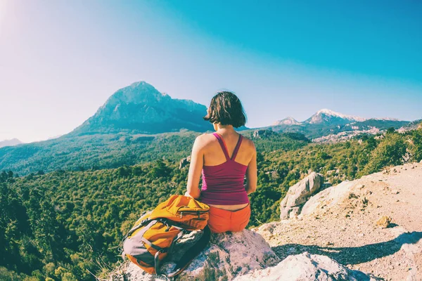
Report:
<svg viewBox="0 0 422 281"><path fill-rule="evenodd" d="M283 261L307 252L373 278L421 281L421 200L422 164L409 163L321 190L298 219L255 231Z"/></svg>

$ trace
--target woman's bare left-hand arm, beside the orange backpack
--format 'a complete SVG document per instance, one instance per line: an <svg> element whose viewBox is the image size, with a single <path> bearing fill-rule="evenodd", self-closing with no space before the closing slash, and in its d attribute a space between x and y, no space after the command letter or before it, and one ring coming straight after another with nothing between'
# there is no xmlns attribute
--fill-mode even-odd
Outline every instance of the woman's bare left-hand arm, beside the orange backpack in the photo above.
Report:
<svg viewBox="0 0 422 281"><path fill-rule="evenodd" d="M193 143L191 164L189 166L188 174L188 185L185 194L186 196L191 196L195 199L200 197L199 180L204 164L203 141L201 141L202 136L204 135L196 137L195 143Z"/></svg>

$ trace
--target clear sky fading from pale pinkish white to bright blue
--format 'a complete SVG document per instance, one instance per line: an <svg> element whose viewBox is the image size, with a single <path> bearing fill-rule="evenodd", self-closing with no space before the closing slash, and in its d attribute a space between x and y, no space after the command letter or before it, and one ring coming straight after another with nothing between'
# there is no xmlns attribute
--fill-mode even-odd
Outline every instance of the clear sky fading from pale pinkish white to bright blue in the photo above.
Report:
<svg viewBox="0 0 422 281"><path fill-rule="evenodd" d="M422 118L421 1L0 0L0 141L72 131L147 81L249 127L321 108Z"/></svg>

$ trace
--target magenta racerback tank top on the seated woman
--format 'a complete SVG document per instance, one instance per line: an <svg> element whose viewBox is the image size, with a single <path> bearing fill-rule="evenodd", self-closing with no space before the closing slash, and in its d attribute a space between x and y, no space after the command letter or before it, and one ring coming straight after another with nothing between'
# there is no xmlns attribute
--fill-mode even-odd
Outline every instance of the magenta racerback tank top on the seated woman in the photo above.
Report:
<svg viewBox="0 0 422 281"><path fill-rule="evenodd" d="M248 194L243 185L248 166L235 162L237 152L242 143L242 135L234 148L233 155L229 157L226 143L218 133L212 133L218 140L226 162L216 166L203 166L203 185L200 196L205 204L236 205L249 203Z"/></svg>

